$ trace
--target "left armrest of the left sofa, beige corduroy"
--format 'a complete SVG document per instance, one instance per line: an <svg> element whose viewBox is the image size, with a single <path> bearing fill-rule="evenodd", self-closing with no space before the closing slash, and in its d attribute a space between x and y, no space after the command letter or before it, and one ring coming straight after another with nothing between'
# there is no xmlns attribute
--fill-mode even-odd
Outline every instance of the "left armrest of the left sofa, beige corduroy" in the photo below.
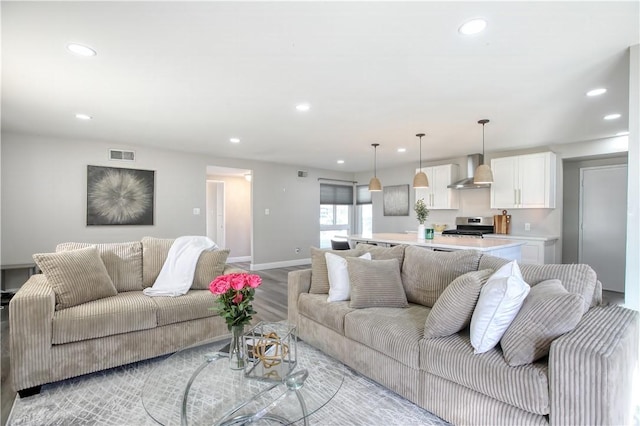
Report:
<svg viewBox="0 0 640 426"><path fill-rule="evenodd" d="M44 275L36 274L9 302L11 378L16 391L49 383L56 298Z"/></svg>

